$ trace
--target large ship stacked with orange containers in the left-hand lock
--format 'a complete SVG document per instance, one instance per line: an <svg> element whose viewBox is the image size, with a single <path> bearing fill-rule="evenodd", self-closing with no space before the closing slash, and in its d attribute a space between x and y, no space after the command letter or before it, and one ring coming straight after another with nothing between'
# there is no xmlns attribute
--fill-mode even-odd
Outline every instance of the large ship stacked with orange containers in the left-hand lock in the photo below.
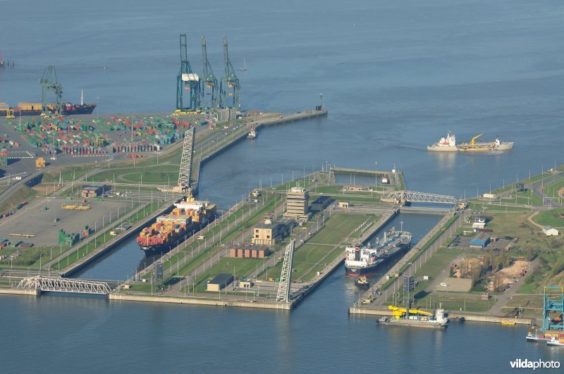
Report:
<svg viewBox="0 0 564 374"><path fill-rule="evenodd" d="M147 256L170 251L216 216L215 204L197 201L192 196L174 206L171 213L157 217L157 222L143 228L137 237L137 244Z"/></svg>

